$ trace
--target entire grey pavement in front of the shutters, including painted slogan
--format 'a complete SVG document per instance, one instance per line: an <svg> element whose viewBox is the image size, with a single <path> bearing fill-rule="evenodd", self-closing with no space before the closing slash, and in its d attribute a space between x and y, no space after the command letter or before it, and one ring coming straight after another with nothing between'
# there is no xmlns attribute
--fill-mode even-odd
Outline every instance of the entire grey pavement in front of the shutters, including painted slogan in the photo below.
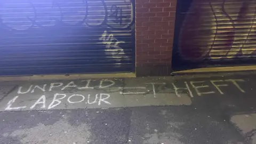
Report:
<svg viewBox="0 0 256 144"><path fill-rule="evenodd" d="M256 143L255 76L1 82L0 142Z"/></svg>

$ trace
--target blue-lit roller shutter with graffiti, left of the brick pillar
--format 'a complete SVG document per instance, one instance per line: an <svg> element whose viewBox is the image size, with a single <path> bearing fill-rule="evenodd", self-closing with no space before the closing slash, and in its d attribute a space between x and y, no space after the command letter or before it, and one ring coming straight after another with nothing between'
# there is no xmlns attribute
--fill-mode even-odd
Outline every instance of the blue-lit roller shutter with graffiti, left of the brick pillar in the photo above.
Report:
<svg viewBox="0 0 256 144"><path fill-rule="evenodd" d="M0 75L134 71L132 3L2 0Z"/></svg>

